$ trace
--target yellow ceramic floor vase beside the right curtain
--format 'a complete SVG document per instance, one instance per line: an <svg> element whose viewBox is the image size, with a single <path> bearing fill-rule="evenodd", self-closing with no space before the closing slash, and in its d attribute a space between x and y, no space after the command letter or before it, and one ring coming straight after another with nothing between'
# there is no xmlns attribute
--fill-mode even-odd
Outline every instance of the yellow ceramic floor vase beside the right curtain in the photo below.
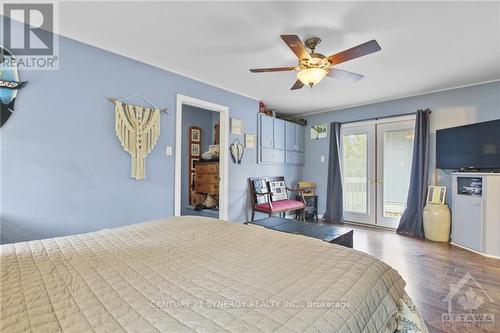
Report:
<svg viewBox="0 0 500 333"><path fill-rule="evenodd" d="M434 242L450 240L451 214L447 205L428 203L424 207L425 238Z"/></svg>

